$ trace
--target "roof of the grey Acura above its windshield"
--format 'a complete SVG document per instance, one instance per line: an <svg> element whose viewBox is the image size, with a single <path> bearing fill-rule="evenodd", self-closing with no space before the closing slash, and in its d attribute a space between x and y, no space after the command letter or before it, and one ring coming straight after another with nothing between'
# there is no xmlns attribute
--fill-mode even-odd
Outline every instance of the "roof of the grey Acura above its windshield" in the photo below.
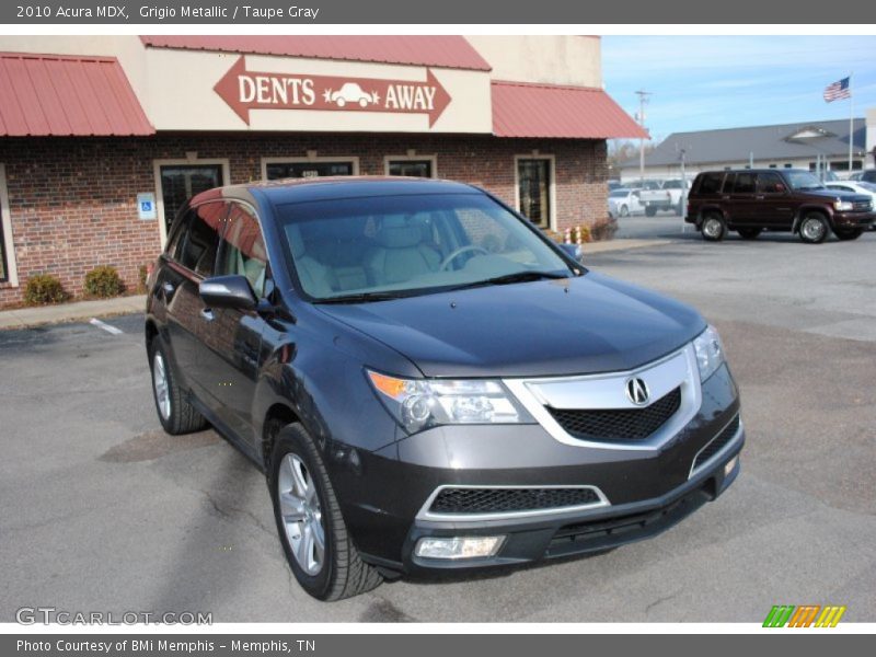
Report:
<svg viewBox="0 0 876 657"><path fill-rule="evenodd" d="M367 198L371 196L418 196L422 194L481 194L465 183L437 178L344 175L310 178L288 178L280 181L255 181L240 185L229 185L219 191L208 189L195 196L197 203L222 197L257 194L274 204L306 203L337 198Z"/></svg>

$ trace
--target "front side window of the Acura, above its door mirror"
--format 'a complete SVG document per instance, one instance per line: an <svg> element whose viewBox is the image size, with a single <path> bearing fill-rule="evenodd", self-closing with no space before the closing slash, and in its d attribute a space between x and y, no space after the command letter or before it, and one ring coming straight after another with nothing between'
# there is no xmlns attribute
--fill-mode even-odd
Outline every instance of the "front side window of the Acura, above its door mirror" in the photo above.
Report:
<svg viewBox="0 0 876 657"><path fill-rule="evenodd" d="M263 297L267 276L267 251L258 220L249 206L238 203L228 205L230 209L217 273L245 276L256 296Z"/></svg>

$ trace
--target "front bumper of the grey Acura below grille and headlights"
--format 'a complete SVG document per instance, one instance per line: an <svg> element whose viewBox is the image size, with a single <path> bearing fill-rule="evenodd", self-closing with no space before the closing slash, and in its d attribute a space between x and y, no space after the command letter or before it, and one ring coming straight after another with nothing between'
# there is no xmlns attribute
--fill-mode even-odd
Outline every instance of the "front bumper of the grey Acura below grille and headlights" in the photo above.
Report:
<svg viewBox="0 0 876 657"><path fill-rule="evenodd" d="M333 482L362 557L387 569L479 569L601 551L668 529L715 499L737 476L738 462L726 474L724 469L742 449L741 424L721 450L693 469L703 449L739 414L738 391L726 366L701 392L693 417L654 449L562 442L541 425L436 427L378 452L359 452L355 471L347 469ZM598 489L608 504L475 520L426 512L442 486L583 485ZM492 557L415 555L423 537L477 535L505 540Z"/></svg>

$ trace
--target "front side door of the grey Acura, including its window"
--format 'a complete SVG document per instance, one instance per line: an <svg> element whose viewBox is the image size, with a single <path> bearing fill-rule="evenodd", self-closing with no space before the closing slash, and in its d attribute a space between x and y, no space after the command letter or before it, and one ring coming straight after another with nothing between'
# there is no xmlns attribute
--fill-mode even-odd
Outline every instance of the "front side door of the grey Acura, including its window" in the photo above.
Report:
<svg viewBox="0 0 876 657"><path fill-rule="evenodd" d="M255 209L228 200L217 275L242 275L257 299L272 287L265 241ZM241 439L255 446L252 406L258 379L265 321L255 310L214 308L217 414Z"/></svg>

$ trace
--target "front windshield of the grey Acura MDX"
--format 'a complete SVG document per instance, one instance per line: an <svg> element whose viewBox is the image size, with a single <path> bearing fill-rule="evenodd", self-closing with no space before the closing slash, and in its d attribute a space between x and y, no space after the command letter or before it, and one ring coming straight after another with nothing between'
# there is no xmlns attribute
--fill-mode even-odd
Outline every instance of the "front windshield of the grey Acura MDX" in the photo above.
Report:
<svg viewBox="0 0 876 657"><path fill-rule="evenodd" d="M318 302L572 275L530 228L482 194L286 204L277 217L301 288Z"/></svg>

